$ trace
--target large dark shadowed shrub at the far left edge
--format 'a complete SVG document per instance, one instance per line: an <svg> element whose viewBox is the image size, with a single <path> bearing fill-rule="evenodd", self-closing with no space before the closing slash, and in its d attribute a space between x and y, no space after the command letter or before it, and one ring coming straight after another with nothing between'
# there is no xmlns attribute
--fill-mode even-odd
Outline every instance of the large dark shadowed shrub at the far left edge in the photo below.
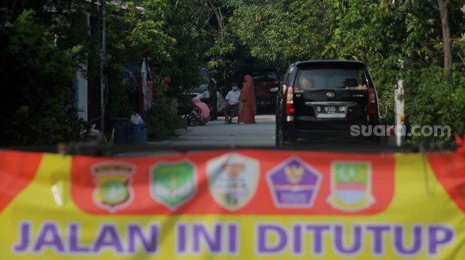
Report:
<svg viewBox="0 0 465 260"><path fill-rule="evenodd" d="M0 9L1 145L43 145L79 138L73 59L53 43L51 27L26 10L9 21Z"/></svg>

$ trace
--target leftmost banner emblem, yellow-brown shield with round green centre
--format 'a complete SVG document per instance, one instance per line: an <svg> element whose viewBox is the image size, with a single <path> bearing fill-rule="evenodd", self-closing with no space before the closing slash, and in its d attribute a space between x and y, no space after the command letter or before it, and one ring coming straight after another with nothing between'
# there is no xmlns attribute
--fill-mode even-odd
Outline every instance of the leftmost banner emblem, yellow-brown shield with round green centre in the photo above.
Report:
<svg viewBox="0 0 465 260"><path fill-rule="evenodd" d="M131 187L135 166L129 163L105 162L92 166L95 188L93 202L109 212L130 205L134 199Z"/></svg>

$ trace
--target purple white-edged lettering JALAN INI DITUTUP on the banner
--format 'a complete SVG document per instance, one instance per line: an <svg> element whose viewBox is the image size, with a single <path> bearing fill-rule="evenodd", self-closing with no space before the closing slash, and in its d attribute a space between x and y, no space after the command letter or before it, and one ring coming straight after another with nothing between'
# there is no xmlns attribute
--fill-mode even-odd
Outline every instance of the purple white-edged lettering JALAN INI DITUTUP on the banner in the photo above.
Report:
<svg viewBox="0 0 465 260"><path fill-rule="evenodd" d="M169 224L175 232L174 250L178 256L210 254L217 256L240 253L240 224L237 222L177 222ZM81 224L70 222L62 229L57 222L43 222L37 232L33 223L19 223L19 239L12 245L15 254L42 254L51 250L58 255L98 255L113 251L116 255L160 254L158 222L128 223L120 230L116 223L100 224L91 241L83 241ZM280 255L324 256L330 250L340 256L357 256L370 251L372 256L385 256L387 250L397 256L440 256L440 251L456 240L455 230L447 224L365 223L352 224L296 222L287 227L279 222L256 222L255 234L243 234L255 239L257 256ZM408 238L408 239L407 239Z"/></svg>

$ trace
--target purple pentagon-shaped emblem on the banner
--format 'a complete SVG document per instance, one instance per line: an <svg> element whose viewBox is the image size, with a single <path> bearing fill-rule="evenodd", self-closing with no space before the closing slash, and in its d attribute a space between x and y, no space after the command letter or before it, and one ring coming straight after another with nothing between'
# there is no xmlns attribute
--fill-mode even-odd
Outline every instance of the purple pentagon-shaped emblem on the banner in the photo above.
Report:
<svg viewBox="0 0 465 260"><path fill-rule="evenodd" d="M300 158L289 158L266 178L276 207L312 207L322 175Z"/></svg>

